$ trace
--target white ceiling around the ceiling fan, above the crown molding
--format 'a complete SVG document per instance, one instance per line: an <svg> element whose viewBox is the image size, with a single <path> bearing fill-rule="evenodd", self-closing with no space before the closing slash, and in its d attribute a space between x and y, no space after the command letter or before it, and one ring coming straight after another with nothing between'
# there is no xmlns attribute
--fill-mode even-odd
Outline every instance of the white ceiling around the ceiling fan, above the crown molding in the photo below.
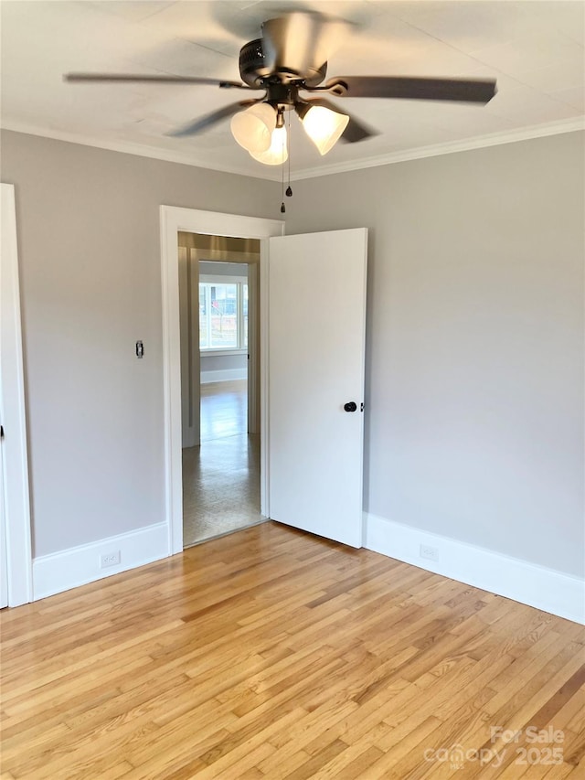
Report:
<svg viewBox="0 0 585 780"><path fill-rule="evenodd" d="M585 113L585 4L2 0L2 126L141 155L276 178L232 139L229 121L191 138L165 135L242 92L207 86L67 84L71 70L239 80L241 45L292 7L352 22L329 59L335 75L495 77L487 106L346 99L380 134L321 157L292 120L293 178L441 150L564 132ZM581 118L581 119L580 119Z"/></svg>

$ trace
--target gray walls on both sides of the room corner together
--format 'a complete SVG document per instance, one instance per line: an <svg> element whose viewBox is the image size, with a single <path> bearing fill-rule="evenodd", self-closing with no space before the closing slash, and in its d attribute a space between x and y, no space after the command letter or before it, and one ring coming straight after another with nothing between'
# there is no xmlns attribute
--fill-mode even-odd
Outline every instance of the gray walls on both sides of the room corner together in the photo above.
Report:
<svg viewBox="0 0 585 780"><path fill-rule="evenodd" d="M4 133L36 555L163 518L158 207L280 219L279 186ZM287 230L370 228L368 511L578 573L580 134L312 178ZM134 357L142 338L145 358Z"/></svg>

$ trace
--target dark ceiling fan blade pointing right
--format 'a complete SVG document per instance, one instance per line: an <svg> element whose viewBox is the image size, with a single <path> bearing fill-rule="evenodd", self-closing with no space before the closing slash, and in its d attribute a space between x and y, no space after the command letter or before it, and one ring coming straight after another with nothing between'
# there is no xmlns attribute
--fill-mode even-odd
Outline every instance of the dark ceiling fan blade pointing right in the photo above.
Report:
<svg viewBox="0 0 585 780"><path fill-rule="evenodd" d="M417 79L402 76L340 76L325 91L339 98L403 98L414 101L486 103L495 95L493 79Z"/></svg>

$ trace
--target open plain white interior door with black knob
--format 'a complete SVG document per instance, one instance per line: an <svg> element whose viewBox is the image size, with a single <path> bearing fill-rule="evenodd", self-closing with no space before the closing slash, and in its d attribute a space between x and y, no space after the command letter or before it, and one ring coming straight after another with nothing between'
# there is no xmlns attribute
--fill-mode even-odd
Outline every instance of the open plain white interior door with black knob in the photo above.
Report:
<svg viewBox="0 0 585 780"><path fill-rule="evenodd" d="M362 546L367 230L270 240L270 516ZM346 404L356 411L346 411ZM351 407L350 407L351 408Z"/></svg>

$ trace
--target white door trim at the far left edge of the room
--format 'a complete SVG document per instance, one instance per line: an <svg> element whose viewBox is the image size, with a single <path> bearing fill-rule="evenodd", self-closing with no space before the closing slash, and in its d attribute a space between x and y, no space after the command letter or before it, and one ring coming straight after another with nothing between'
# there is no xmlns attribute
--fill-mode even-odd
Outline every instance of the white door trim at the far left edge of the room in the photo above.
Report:
<svg viewBox="0 0 585 780"><path fill-rule="evenodd" d="M8 606L33 600L27 412L22 358L15 187L2 184L0 264L0 349L2 423L5 427L4 485Z"/></svg>

